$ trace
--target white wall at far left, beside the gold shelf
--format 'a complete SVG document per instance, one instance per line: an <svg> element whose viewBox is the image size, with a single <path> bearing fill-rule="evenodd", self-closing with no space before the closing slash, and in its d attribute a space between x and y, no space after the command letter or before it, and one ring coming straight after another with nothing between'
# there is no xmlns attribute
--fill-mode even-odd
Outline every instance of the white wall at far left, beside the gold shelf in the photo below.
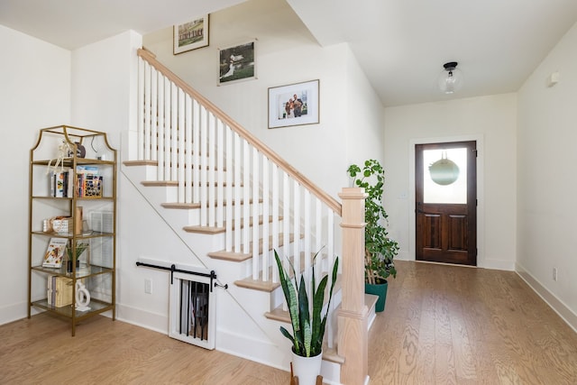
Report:
<svg viewBox="0 0 577 385"><path fill-rule="evenodd" d="M70 52L0 25L0 324L23 318L28 301L28 164L38 130L68 124Z"/></svg>

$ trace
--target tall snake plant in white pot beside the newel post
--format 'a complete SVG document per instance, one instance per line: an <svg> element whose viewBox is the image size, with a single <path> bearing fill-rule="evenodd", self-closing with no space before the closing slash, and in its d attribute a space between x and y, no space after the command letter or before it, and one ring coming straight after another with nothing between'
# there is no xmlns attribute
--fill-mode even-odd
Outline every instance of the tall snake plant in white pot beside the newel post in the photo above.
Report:
<svg viewBox="0 0 577 385"><path fill-rule="evenodd" d="M318 255L318 252L316 253ZM338 257L334 261L333 275L331 280L331 289L328 292L328 304L325 315L321 315L325 302L325 288L328 281L328 275L325 275L318 286L315 280L315 264L313 259L312 272L310 274L310 290L313 303L309 307L309 297L305 276L300 275L300 280L292 267L293 280L289 273L284 270L280 262L279 254L274 251L274 258L279 268L279 280L282 292L284 293L287 305L289 307L290 323L292 325L292 335L284 327L280 326L280 333L289 338L292 343L293 369L295 376L298 377L298 383L302 385L315 384L316 376L320 374L320 367L323 353L323 338L325 336L326 316L328 309L331 307L333 298L334 282L338 271ZM312 310L312 311L311 311ZM306 359L301 359L306 357ZM312 362L311 362L312 361ZM313 369L310 372L303 371L303 365L311 365Z"/></svg>

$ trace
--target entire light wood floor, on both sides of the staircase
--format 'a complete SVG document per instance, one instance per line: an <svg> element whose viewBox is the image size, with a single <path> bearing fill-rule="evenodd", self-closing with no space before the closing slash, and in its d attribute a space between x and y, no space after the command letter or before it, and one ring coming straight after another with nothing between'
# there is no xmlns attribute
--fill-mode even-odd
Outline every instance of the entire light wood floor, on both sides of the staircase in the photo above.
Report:
<svg viewBox="0 0 577 385"><path fill-rule="evenodd" d="M517 274L398 261L371 384L577 384L577 335ZM287 385L289 373L96 317L0 325L0 384ZM354 384L356 385L356 384Z"/></svg>

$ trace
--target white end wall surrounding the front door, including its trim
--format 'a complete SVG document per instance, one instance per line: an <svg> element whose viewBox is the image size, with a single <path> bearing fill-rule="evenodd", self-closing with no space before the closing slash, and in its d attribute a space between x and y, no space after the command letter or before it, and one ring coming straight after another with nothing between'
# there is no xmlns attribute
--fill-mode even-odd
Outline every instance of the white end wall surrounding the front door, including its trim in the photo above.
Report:
<svg viewBox="0 0 577 385"><path fill-rule="evenodd" d="M515 94L385 110L385 208L398 258L415 259L414 144L477 139L478 265L513 270L516 256ZM484 225L483 225L484 224Z"/></svg>

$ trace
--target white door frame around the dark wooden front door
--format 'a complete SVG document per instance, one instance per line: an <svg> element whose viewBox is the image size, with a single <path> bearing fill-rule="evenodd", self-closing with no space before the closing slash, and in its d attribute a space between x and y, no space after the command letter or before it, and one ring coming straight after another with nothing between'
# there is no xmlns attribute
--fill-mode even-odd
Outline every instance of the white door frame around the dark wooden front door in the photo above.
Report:
<svg viewBox="0 0 577 385"><path fill-rule="evenodd" d="M415 223L415 145L444 142L477 142L477 267L485 264L485 199L484 199L484 142L483 135L443 136L434 138L411 139L408 145L408 256L416 261L417 224Z"/></svg>

